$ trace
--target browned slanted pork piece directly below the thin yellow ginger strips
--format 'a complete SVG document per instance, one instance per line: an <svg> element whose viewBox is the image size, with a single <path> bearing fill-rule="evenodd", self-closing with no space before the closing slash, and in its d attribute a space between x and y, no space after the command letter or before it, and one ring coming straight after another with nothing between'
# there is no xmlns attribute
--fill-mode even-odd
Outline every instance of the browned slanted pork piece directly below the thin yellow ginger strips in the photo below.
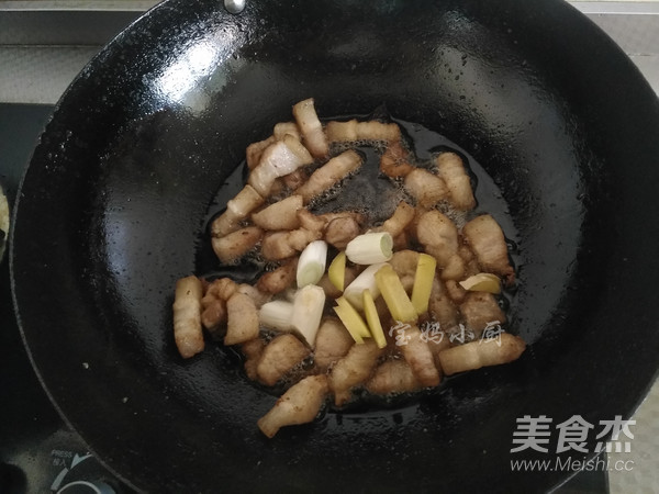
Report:
<svg viewBox="0 0 659 494"><path fill-rule="evenodd" d="M330 389L334 392L337 406L350 400L351 389L370 377L383 351L372 339L368 339L361 345L353 345L348 353L334 364L330 373Z"/></svg>

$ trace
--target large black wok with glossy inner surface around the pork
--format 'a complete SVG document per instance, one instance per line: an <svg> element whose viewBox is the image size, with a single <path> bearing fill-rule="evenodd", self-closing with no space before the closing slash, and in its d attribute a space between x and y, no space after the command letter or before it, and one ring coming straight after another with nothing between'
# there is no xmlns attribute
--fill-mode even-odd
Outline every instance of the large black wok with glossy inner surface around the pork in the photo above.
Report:
<svg viewBox="0 0 659 494"><path fill-rule="evenodd" d="M275 397L226 349L182 361L170 304L245 146L309 97L326 116L386 103L484 167L517 231L511 330L530 345L267 440ZM629 417L656 375L658 136L649 86L561 1L261 0L232 16L170 0L82 71L34 151L11 239L20 327L63 416L139 490L544 491L570 472L510 460L554 459L557 433L549 453L511 453L516 418Z"/></svg>

